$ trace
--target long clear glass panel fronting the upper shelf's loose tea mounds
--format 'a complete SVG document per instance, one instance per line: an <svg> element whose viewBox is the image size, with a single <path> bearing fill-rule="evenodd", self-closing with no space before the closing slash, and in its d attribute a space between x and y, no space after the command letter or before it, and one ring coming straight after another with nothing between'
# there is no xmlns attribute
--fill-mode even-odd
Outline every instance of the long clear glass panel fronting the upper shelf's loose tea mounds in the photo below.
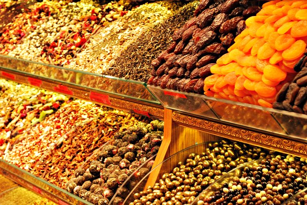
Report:
<svg viewBox="0 0 307 205"><path fill-rule="evenodd" d="M83 72L0 55L0 67L86 88L158 104L146 83Z"/></svg>

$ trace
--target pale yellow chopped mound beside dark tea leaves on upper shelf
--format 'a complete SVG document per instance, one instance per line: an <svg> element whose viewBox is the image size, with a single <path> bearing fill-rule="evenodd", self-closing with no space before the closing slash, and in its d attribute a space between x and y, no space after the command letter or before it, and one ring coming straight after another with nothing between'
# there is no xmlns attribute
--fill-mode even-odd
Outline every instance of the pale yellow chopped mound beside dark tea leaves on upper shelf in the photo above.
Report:
<svg viewBox="0 0 307 205"><path fill-rule="evenodd" d="M67 67L104 74L116 55L138 35L173 16L177 4L180 5L180 3L157 1L145 3L129 11L124 17L102 28Z"/></svg>

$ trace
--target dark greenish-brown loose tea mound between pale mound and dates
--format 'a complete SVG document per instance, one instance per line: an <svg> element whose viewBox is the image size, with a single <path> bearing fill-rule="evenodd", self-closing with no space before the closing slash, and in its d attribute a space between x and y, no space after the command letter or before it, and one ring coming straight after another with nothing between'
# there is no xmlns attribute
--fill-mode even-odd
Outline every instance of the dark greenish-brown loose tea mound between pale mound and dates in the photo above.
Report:
<svg viewBox="0 0 307 205"><path fill-rule="evenodd" d="M193 17L198 3L199 1L195 0L184 5L175 12L173 17L141 34L114 59L105 73L119 78L146 82L152 70L152 60L172 43L174 30L182 27Z"/></svg>

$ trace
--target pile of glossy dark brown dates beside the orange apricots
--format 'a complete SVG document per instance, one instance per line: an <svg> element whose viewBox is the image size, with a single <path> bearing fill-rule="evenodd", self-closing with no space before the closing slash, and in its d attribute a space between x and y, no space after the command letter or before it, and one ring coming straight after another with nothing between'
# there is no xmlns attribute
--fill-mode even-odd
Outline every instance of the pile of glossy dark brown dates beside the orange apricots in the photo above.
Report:
<svg viewBox="0 0 307 205"><path fill-rule="evenodd" d="M203 94L211 66L246 28L245 19L259 11L248 0L201 0L194 17L174 31L173 43L152 61L148 84Z"/></svg>

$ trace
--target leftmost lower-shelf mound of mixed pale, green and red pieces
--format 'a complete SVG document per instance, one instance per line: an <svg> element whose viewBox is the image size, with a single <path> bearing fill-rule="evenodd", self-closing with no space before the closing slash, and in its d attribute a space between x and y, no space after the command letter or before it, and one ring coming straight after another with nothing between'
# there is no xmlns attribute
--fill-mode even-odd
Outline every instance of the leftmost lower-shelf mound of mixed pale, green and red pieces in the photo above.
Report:
<svg viewBox="0 0 307 205"><path fill-rule="evenodd" d="M64 95L0 79L0 155L31 126L69 100Z"/></svg>

